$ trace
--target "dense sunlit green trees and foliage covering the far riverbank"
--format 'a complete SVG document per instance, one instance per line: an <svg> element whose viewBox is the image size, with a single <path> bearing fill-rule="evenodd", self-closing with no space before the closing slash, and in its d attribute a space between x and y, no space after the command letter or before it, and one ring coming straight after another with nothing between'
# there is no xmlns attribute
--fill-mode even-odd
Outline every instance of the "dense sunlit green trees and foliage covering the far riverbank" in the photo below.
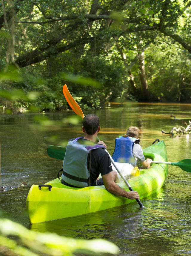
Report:
<svg viewBox="0 0 191 256"><path fill-rule="evenodd" d="M191 100L191 1L15 0L0 5L0 70L7 73L12 63L22 77L1 87L40 92L33 102L39 111L67 108L61 93L65 83L84 108L102 108L121 95ZM25 101L18 104L29 107Z"/></svg>

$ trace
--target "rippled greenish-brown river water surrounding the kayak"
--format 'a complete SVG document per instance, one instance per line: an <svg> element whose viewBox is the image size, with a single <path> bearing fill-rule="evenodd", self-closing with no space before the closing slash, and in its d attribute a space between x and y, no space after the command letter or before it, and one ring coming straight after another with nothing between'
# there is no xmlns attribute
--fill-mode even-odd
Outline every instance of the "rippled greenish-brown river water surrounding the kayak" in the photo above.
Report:
<svg viewBox="0 0 191 256"><path fill-rule="evenodd" d="M191 158L191 135L164 135L172 127L191 121L190 104L124 103L92 111L100 117L99 139L113 153L115 138L127 127L140 128L142 148L163 140L169 162ZM85 112L88 114L90 112ZM170 119L170 114L176 120ZM71 116L75 119L71 119ZM115 207L83 216L30 225L26 212L27 193L32 184L56 178L62 161L47 156L47 146L64 145L83 135L81 121L72 111L0 115L0 209L10 218L35 231L56 232L67 237L103 238L115 243L119 255L191 254L191 173L169 166L165 185L138 204ZM75 121L75 122L74 122ZM19 187L25 182L27 186Z"/></svg>

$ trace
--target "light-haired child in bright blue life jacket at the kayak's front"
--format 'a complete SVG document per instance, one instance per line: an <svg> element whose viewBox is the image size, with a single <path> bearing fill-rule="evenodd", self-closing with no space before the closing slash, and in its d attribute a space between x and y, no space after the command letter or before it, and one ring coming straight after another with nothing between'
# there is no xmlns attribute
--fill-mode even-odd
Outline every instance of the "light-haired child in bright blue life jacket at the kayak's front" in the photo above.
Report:
<svg viewBox="0 0 191 256"><path fill-rule="evenodd" d="M145 160L143 150L139 145L138 135L138 127L130 126L125 136L119 136L115 139L115 149L112 156L115 162L129 163L133 166L141 164L144 169L150 168L152 159L147 158Z"/></svg>

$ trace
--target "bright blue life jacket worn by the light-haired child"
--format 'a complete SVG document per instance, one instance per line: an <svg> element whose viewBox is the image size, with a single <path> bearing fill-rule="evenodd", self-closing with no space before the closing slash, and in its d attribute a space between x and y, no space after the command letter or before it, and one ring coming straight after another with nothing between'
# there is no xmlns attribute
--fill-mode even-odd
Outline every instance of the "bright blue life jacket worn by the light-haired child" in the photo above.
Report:
<svg viewBox="0 0 191 256"><path fill-rule="evenodd" d="M115 139L115 149L113 152L113 160L115 162L129 163L136 165L137 160L133 156L133 145L139 144L138 139L119 136Z"/></svg>

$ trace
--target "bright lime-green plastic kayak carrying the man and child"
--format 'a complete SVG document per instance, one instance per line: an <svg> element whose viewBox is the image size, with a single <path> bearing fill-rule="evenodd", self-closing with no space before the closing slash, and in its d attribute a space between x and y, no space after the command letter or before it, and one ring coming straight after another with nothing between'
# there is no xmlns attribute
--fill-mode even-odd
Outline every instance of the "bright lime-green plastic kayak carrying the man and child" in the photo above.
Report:
<svg viewBox="0 0 191 256"><path fill-rule="evenodd" d="M164 141L145 148L143 152L145 158L167 161ZM128 182L133 190L138 191L141 199L158 191L167 173L168 165L153 163L151 168L140 170L140 175ZM118 185L129 191L124 181ZM27 212L30 223L38 223L105 210L133 201L111 194L104 186L72 188L63 185L57 178L44 185L31 186L27 196Z"/></svg>

